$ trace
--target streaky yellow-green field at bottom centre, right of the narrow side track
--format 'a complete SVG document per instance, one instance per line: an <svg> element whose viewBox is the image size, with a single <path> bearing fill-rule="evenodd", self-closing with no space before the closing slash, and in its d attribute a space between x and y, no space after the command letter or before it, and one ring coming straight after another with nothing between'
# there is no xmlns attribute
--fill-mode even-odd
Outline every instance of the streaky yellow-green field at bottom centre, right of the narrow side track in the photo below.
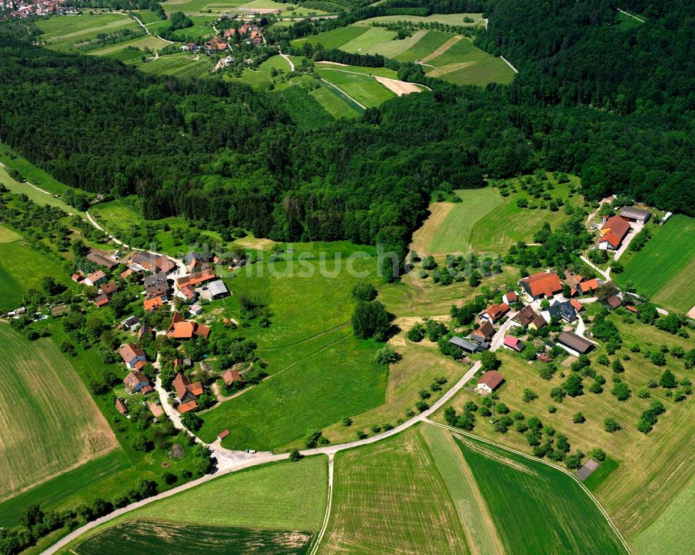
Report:
<svg viewBox="0 0 695 555"><path fill-rule="evenodd" d="M320 554L470 553L464 527L418 429L336 454Z"/></svg>

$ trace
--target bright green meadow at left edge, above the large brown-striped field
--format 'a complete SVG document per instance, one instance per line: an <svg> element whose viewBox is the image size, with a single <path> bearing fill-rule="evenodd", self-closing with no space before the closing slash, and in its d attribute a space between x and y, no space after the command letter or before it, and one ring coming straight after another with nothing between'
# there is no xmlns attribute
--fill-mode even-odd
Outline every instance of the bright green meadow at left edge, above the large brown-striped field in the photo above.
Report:
<svg viewBox="0 0 695 555"><path fill-rule="evenodd" d="M54 276L58 283L74 288L60 263L22 241L0 243L0 260L0 312L18 308L28 290L42 290L44 276Z"/></svg>

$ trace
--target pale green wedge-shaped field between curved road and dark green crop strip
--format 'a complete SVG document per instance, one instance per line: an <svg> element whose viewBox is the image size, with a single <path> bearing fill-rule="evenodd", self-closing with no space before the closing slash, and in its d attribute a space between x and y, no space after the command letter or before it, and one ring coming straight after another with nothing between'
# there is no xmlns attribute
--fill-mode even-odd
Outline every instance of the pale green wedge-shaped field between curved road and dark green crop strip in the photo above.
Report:
<svg viewBox="0 0 695 555"><path fill-rule="evenodd" d="M227 529L229 533L234 529L315 533L325 514L327 481L325 456L241 470L122 515L90 530L68 547L78 553L90 553L95 545L111 542L111 538L120 535L119 529L133 522L158 521L157 525L165 526L176 522L179 529L204 525L220 531ZM140 536L149 544L156 542L158 535L152 530L152 534ZM172 536L176 533L172 532ZM230 542L236 540L229 538ZM244 552L228 544L230 548L224 552ZM138 545L133 545L133 549L139 549Z"/></svg>

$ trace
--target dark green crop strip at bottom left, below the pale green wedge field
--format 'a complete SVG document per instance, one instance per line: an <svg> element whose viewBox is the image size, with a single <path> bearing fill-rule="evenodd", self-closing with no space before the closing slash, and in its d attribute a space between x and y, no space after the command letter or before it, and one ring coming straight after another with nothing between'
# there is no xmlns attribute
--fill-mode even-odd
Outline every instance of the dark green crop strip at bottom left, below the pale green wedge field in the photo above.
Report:
<svg viewBox="0 0 695 555"><path fill-rule="evenodd" d="M182 545L190 555L245 553L303 555L311 533L250 528L213 527L200 524L181 527L178 522L133 520L122 522L72 550L76 555L151 555L176 552Z"/></svg>

